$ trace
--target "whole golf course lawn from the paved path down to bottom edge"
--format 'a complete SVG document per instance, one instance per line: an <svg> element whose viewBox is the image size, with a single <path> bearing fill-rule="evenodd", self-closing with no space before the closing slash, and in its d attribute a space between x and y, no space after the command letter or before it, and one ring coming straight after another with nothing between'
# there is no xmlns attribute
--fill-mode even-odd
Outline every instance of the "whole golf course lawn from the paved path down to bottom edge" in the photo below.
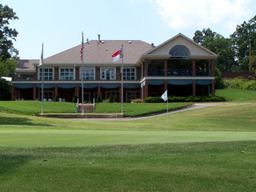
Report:
<svg viewBox="0 0 256 192"><path fill-rule="evenodd" d="M250 100L168 114L168 128L166 114L0 113L0 191L254 191L255 109Z"/></svg>

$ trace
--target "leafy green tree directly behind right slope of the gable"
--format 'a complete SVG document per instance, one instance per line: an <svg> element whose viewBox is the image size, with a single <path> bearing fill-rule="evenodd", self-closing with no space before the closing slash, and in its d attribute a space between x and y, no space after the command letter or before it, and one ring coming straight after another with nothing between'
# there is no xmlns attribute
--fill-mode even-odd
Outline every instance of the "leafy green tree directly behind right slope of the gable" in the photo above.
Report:
<svg viewBox="0 0 256 192"><path fill-rule="evenodd" d="M210 29L197 30L194 33L194 42L218 54L215 65L221 71L235 71L238 62L235 61L235 51L229 38L224 38Z"/></svg>

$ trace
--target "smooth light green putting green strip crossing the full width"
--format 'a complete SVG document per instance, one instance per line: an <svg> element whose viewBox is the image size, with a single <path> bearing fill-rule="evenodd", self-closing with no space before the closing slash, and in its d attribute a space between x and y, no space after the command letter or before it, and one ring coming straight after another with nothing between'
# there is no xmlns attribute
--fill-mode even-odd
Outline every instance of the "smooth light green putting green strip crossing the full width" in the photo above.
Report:
<svg viewBox="0 0 256 192"><path fill-rule="evenodd" d="M255 140L256 132L128 130L0 130L0 146L90 146Z"/></svg>

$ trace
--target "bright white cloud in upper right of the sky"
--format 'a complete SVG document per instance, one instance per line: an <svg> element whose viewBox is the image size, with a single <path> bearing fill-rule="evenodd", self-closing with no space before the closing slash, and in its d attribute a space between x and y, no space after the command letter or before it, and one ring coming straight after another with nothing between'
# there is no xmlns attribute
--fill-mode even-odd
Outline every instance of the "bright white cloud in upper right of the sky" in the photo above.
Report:
<svg viewBox="0 0 256 192"><path fill-rule="evenodd" d="M230 33L252 18L255 8L254 0L157 0L156 4L158 14L173 30L218 26Z"/></svg>

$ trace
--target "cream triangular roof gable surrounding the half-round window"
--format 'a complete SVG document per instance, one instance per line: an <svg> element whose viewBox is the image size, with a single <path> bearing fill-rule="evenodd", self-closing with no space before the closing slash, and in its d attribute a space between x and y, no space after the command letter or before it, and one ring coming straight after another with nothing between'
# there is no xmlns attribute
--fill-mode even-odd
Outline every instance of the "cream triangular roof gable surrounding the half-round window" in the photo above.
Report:
<svg viewBox="0 0 256 192"><path fill-rule="evenodd" d="M159 55L170 55L170 50L174 46L186 46L188 50L190 50L190 58L193 57L213 57L216 58L218 55L214 54L214 52L207 50L205 47L198 45L198 43L194 42L190 38L187 38L183 34L178 34L174 36L174 38L170 38L166 42L163 42L161 45L154 48L154 50L148 51L146 55L150 56L159 56Z"/></svg>

